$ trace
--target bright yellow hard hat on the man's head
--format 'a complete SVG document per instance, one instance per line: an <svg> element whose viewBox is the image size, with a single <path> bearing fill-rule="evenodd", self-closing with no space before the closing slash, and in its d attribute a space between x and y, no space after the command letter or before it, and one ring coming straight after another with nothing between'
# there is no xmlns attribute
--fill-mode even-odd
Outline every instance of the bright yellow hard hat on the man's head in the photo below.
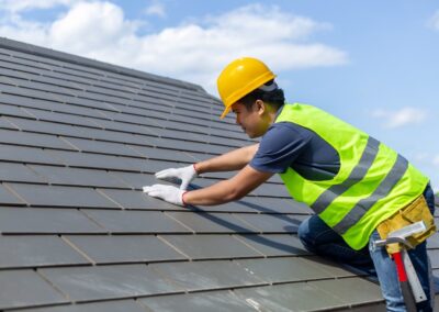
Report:
<svg viewBox="0 0 439 312"><path fill-rule="evenodd" d="M274 79L275 75L266 64L252 57L241 57L228 64L216 81L224 103L223 119L236 101Z"/></svg>

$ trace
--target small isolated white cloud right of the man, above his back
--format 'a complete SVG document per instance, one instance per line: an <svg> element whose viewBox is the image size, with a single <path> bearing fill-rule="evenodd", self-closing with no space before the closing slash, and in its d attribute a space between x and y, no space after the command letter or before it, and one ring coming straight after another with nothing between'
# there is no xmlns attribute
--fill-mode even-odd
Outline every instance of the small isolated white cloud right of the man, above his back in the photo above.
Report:
<svg viewBox="0 0 439 312"><path fill-rule="evenodd" d="M427 112L415 108L403 108L397 111L375 110L372 116L383 119L384 127L395 129L423 122L427 118Z"/></svg>

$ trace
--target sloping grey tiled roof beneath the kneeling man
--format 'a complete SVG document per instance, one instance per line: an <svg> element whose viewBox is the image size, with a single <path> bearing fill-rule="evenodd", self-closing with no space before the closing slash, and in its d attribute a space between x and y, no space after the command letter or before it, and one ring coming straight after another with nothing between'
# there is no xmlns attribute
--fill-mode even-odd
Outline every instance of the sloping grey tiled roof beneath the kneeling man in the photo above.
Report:
<svg viewBox="0 0 439 312"><path fill-rule="evenodd" d="M0 74L1 311L383 307L375 282L303 248L311 210L277 177L212 208L142 192L251 143L200 86L5 38ZM438 234L429 248L439 276Z"/></svg>

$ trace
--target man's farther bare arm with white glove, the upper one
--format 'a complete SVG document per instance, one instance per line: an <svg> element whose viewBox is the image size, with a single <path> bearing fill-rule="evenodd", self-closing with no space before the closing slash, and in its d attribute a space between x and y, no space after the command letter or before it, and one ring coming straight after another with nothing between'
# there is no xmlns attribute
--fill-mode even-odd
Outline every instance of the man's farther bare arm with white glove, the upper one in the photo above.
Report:
<svg viewBox="0 0 439 312"><path fill-rule="evenodd" d="M256 154L259 144L245 146L228 152L217 157L200 161L182 168L169 168L156 174L157 179L180 182L180 189L185 190L188 185L196 178L198 175L216 171L232 171L244 168Z"/></svg>

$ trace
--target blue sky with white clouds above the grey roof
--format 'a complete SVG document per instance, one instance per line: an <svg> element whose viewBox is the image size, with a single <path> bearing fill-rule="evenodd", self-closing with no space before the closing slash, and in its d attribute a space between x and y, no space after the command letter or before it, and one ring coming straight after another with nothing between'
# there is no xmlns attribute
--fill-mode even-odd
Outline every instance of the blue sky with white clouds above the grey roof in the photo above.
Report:
<svg viewBox="0 0 439 312"><path fill-rule="evenodd" d="M289 102L395 148L439 191L439 1L0 0L0 36L201 85L263 60Z"/></svg>

